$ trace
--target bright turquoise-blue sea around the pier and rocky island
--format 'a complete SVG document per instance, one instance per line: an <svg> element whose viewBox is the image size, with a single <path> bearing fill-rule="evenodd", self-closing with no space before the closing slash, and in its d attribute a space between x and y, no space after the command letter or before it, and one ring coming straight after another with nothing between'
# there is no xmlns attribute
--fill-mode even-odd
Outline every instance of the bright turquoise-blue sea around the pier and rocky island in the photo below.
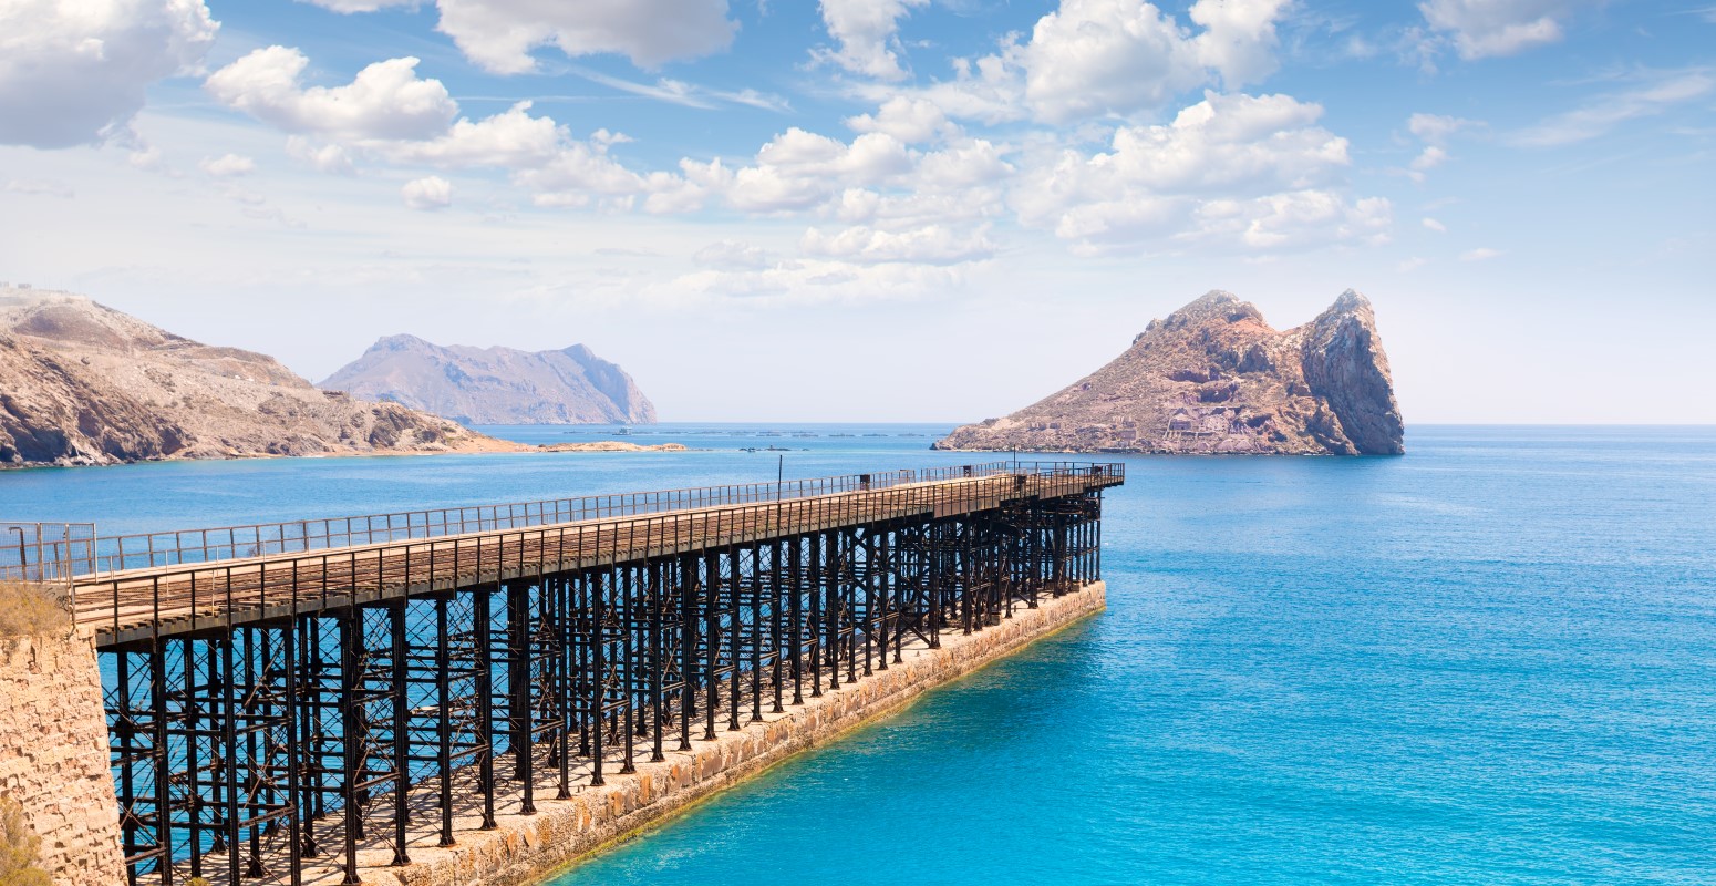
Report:
<svg viewBox="0 0 1716 886"><path fill-rule="evenodd" d="M988 458L927 452L947 429L10 470L0 520L113 534ZM741 452L770 445L791 452ZM1129 458L1107 613L556 886L1716 883L1716 428L1407 448Z"/></svg>

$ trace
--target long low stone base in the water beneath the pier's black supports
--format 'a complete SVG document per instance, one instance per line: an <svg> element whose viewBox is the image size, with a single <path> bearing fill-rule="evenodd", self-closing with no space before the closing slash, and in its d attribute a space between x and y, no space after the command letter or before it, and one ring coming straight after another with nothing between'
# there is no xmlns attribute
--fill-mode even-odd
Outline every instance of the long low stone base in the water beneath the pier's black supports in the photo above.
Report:
<svg viewBox="0 0 1716 886"><path fill-rule="evenodd" d="M789 706L784 714L764 714L762 723L724 731L714 742L693 742L693 750L669 752L664 762L640 762L635 774L613 774L604 786L583 786L568 800L539 798L535 816L503 814L492 831L460 829L458 843L446 848L414 841L410 865L384 867L384 857L362 859L362 879L403 886L541 883L582 855L892 713L925 690L1004 658L1103 604L1105 586L1093 582L1072 594L1045 598L1036 610L1021 606L1012 618L970 637L947 634L940 649L908 647L904 663L856 683L841 683L837 692L824 690L820 699L807 695L803 706Z"/></svg>

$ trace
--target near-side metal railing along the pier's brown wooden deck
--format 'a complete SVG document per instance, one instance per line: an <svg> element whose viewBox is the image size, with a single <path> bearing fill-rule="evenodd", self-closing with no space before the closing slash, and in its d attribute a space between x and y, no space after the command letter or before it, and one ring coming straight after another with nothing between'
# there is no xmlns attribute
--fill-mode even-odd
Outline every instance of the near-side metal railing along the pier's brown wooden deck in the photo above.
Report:
<svg viewBox="0 0 1716 886"><path fill-rule="evenodd" d="M1012 477L1011 482L994 482L1007 476ZM254 561L242 558L182 561L175 563L180 568L110 572L76 582L74 618L81 627L110 630L113 635L127 627L153 625L151 630L161 630L161 618L187 620L182 627L196 630L199 620L233 620L244 611L264 613L290 606L295 613L328 608L329 601L338 604L359 591L379 592L388 587L422 587L448 580L480 584L525 575L530 568L542 572L549 563L566 565L580 560L613 563L656 558L698 544L738 544L745 539L815 532L904 515L990 508L1018 495L1072 495L1091 486L1119 484L1124 477L1122 464L995 462L793 481L782 484L781 496L774 495L776 484L770 482L561 500L668 496L661 501L683 501L683 505L673 510L638 512L635 510L640 507L638 501L625 501L601 508L602 513L595 513L597 508L571 512L585 517L561 519L558 525L491 525L462 534L448 532L451 537L378 537L369 548L348 544L345 549L285 551ZM961 479L992 482L949 482ZM788 489L805 493L786 495ZM834 491L819 495L808 489ZM712 491L755 498L746 503L710 505L712 495L685 495ZM561 508L532 513L541 517L568 512ZM441 524L408 525L441 527ZM395 529L402 531L405 525ZM290 556L292 553L299 556Z"/></svg>

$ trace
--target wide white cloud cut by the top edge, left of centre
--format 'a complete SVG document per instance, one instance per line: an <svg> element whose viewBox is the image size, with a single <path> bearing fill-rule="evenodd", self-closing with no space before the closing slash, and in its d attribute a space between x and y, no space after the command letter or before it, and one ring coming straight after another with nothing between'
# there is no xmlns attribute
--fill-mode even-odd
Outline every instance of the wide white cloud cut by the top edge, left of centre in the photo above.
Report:
<svg viewBox="0 0 1716 886"><path fill-rule="evenodd" d="M441 33L496 74L535 70L530 50L618 53L640 67L697 58L733 43L726 0L439 0Z"/></svg>

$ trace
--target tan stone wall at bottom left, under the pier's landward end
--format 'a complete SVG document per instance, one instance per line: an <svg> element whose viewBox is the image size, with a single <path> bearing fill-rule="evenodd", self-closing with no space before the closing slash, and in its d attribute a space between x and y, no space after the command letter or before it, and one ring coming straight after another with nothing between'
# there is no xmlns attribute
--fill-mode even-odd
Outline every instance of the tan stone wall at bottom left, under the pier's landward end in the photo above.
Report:
<svg viewBox="0 0 1716 886"><path fill-rule="evenodd" d="M55 886L124 883L101 671L88 639L0 639L0 797Z"/></svg>

